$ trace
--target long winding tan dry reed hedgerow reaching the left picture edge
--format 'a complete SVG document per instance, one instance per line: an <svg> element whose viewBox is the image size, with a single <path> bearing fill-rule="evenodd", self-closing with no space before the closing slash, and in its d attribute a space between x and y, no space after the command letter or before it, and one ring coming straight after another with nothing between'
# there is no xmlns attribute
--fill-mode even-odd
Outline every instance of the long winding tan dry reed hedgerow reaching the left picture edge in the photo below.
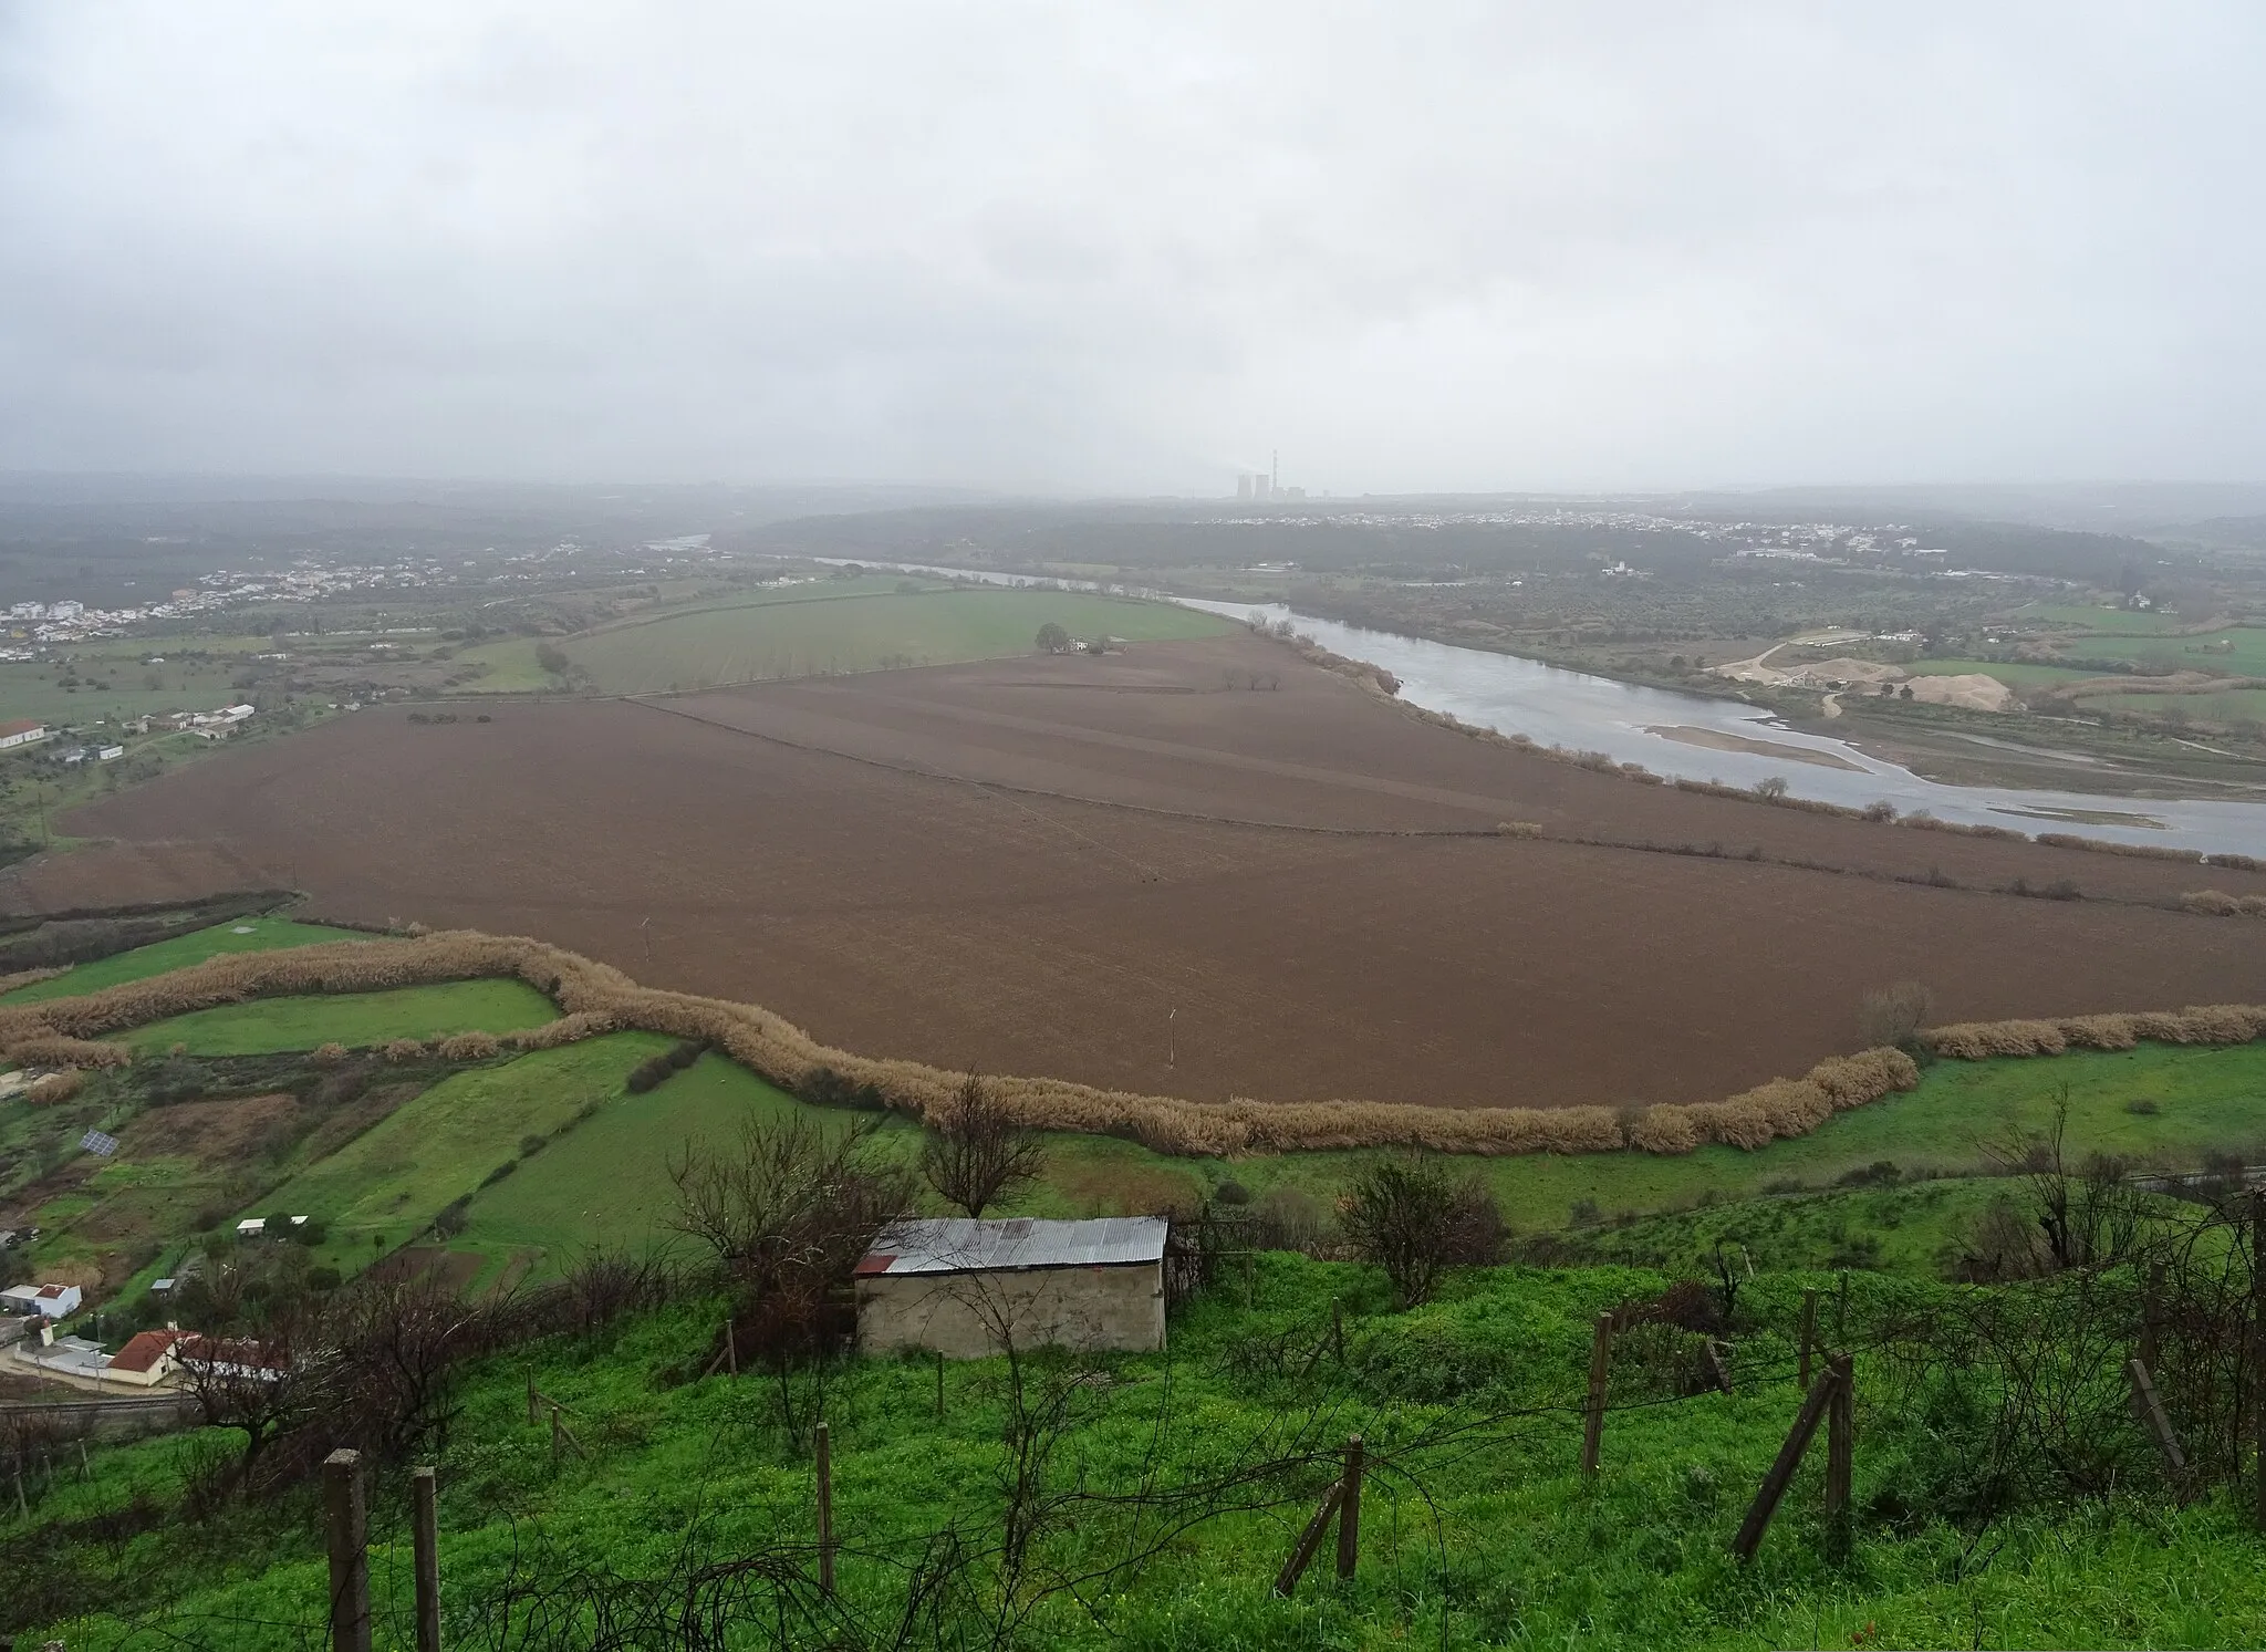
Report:
<svg viewBox="0 0 2266 1652"><path fill-rule="evenodd" d="M963 1074L913 1061L872 1061L820 1045L755 1004L664 993L621 970L542 940L442 931L406 940L329 940L281 952L236 952L125 981L86 997L0 1004L0 1047L25 1040L88 1040L195 1008L265 995L363 993L476 977L517 977L564 1013L499 1040L551 1049L625 1027L702 1040L750 1072L804 1090L818 1070L872 1085L888 1106L931 1119L952 1106ZM79 1047L79 1045L75 1045ZM97 1049L109 1049L97 1045ZM387 1045L419 1049L415 1040ZM1020 1122L1124 1135L1162 1153L1237 1153L1323 1147L1430 1147L1443 1153L1602 1153L1620 1147L1690 1151L1700 1142L1761 1147L1817 1129L1838 1108L1865 1106L1919 1081L1894 1049L1835 1056L1804 1079L1777 1079L1729 1101L1656 1106L1629 1133L1609 1108L1432 1108L1382 1101L1185 1101L1097 1090L1065 1079L995 1079Z"/></svg>

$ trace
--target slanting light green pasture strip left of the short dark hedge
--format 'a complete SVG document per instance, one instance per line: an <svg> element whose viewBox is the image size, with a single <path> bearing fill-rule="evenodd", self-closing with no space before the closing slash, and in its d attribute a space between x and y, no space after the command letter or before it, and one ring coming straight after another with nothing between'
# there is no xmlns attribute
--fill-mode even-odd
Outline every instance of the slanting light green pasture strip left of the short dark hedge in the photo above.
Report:
<svg viewBox="0 0 2266 1652"><path fill-rule="evenodd" d="M607 1033L458 1072L265 1194L261 1208L245 1215L283 1210L322 1217L331 1226L324 1260L353 1271L376 1251L372 1240L385 1246L415 1240L442 1206L476 1192L483 1176L517 1160L526 1138L569 1129L585 1108L603 1113L621 1095L630 1070L664 1049L668 1040L655 1033ZM573 1140L571 1129L566 1140ZM603 1242L607 1235L587 1237Z"/></svg>

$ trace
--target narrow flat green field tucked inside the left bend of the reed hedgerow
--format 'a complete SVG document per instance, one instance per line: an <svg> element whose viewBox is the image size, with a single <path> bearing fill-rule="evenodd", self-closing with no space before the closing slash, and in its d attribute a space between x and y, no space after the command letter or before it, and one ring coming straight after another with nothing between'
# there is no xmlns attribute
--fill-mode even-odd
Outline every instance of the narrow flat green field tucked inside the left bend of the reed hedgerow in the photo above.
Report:
<svg viewBox="0 0 2266 1652"><path fill-rule="evenodd" d="M514 1033L557 1020L557 1008L523 981L442 981L385 993L261 997L150 1022L127 1033L136 1051L188 1045L193 1056L252 1056L270 1049L347 1045L363 1049L394 1038Z"/></svg>

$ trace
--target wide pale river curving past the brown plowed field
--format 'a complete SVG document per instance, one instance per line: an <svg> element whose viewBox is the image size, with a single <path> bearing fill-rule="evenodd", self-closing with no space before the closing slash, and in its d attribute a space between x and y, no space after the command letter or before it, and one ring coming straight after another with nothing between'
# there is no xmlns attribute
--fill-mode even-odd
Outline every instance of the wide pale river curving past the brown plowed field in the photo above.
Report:
<svg viewBox="0 0 2266 1652"><path fill-rule="evenodd" d="M1013 573L945 569L922 562L870 562L863 557L816 557L834 564L934 573L983 585L1047 585ZM1647 689L1586 671L1564 671L1486 648L1405 637L1389 630L1341 625L1301 614L1283 603L1212 603L1172 591L1151 591L1092 580L1051 580L1070 589L1147 596L1199 607L1226 619L1289 621L1330 653L1366 659L1400 678L1400 698L1428 712L1450 712L1502 734L1525 734L1543 746L1607 752L1620 764L1643 764L1670 780L1720 780L1752 786L1779 777L1797 798L1820 798L1863 807L1885 800L1899 814L1926 809L1942 820L2003 825L2021 832L2078 832L2121 843L2159 843L2191 850L2266 857L2266 802L2218 802L2184 798L2105 798L2082 791L2021 791L2012 786L1946 786L1908 768L1867 757L1849 741L1804 734L1774 714L1736 700L1711 700L1672 689ZM1702 730L1772 746L1799 746L1849 764L1826 768L1743 750L1713 750L1654 734L1656 727ZM2067 811L2123 814L2126 823L2058 818ZM2044 816L2044 818L2042 818ZM2146 825L2159 823L2159 825Z"/></svg>

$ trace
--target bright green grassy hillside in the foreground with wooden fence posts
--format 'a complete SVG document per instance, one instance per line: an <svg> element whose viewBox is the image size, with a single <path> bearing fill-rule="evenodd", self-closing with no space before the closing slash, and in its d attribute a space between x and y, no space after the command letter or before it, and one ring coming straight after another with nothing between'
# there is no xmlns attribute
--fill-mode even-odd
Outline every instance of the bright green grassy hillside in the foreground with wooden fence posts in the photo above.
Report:
<svg viewBox="0 0 2266 1652"><path fill-rule="evenodd" d="M825 1382L834 1512L843 1534L838 1611L886 1636L906 1568L956 1532L974 1550L940 1573L952 1645L988 1645L981 1623L1022 1613L1031 1647L1774 1647L1774 1645L2255 1645L2266 1573L2241 1514L2214 1496L2175 1509L2135 1453L2126 1498L1994 1523L1987 1543L1928 1514L1924 1487L1956 1475L1942 1439L1888 1403L1890 1378L1860 1362L1856 1552L1822 1552L1822 1450L1795 1480L1761 1559L1727 1543L1799 1405L1790 1330L1808 1276L1743 1292L1736 1394L1677 1398L1632 1351L1616 1360L1602 1473L1577 1473L1577 1396L1588 1319L1647 1298L1638 1269L1489 1269L1443 1301L1382 1312L1375 1276L1351 1264L1262 1258L1251 1296L1215 1289L1174 1326L1160 1357L1110 1357L1101 1378L1026 1369L1026 1407L1002 1360L954 1364L943 1416L920 1360L859 1360ZM1860 1289L1872 1289L1863 1287ZM1344 1366L1307 1360L1337 1298ZM1858 1303L1863 1305L1863 1301ZM1917 1303L1915 1303L1917 1305ZM548 1611L605 1598L632 1611L632 1579L678 1604L725 1602L730 1643L773 1645L768 1566L809 1577L811 1466L802 1423L773 1380L682 1382L714 1335L714 1303L644 1314L591 1339L496 1360L465 1391L440 1457L444 1636L494 1643L505 1589L519 1632ZM1285 1357L1287 1355L1287 1357ZM551 1459L528 1425L526 1382L566 1407L587 1457ZM809 1373L784 1389L807 1419ZM1017 1416L1058 1400L1067 1425L1031 1466L1040 1507L1029 1568L1006 1577L997 1543ZM1346 1434L1369 1444L1360 1570L1330 1550L1292 1600L1269 1595ZM88 1484L57 1480L29 1521L0 1516L20 1570L14 1613L75 1652L163 1638L186 1647L297 1647L320 1638L324 1561L315 1500L165 1521L195 1439L97 1453ZM1172 1514L1133 1516L1147 1489L1183 1491ZM143 1498L138 1516L118 1512ZM408 1634L401 1489L378 1487L372 1570L381 1641ZM156 1516L156 1518L154 1518ZM122 1536L95 1536L97 1532ZM73 1536L84 1532L84 1536ZM1151 1541L1160 1552L1142 1564ZM746 1595L702 1566L755 1561ZM1063 1579L1092 1573L1072 1593ZM730 1577L725 1573L723 1577ZM931 1573L938 1575L938 1573ZM668 1582L668 1579L680 1582ZM800 1602L811 1602L807 1593ZM52 1602L52 1604L48 1604ZM36 1604L45 1611L32 1616ZM789 1609L793 1620L795 1609ZM392 1638L387 1638L392 1636ZM36 1638L36 1636L34 1636ZM807 1632L795 1645L852 1643ZM519 1638L512 1641L521 1643ZM528 1645L551 1645L530 1638ZM857 1643L863 1643L861 1638ZM918 1641L927 1645L929 1641Z"/></svg>

